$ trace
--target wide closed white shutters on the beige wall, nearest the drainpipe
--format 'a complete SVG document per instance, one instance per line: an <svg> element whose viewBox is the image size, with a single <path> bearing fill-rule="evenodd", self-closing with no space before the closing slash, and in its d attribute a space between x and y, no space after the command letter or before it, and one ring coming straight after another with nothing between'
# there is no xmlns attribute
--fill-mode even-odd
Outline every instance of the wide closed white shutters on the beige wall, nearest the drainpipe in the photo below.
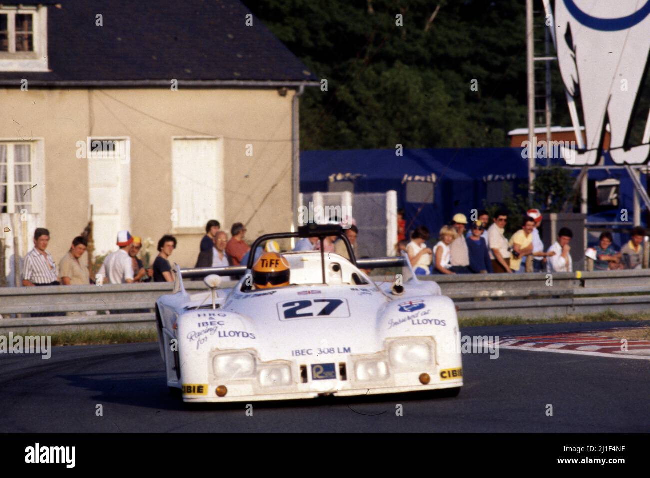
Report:
<svg viewBox="0 0 650 478"><path fill-rule="evenodd" d="M174 139L172 207L175 229L224 222L224 148L220 139Z"/></svg>

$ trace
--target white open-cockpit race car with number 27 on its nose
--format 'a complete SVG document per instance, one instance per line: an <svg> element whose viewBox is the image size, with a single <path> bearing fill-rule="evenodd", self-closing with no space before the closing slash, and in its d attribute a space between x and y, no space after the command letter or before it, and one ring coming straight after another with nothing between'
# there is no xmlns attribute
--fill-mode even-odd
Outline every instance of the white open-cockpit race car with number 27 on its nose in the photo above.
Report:
<svg viewBox="0 0 650 478"><path fill-rule="evenodd" d="M463 385L456 307L435 282L421 282L406 256L359 259L341 226L304 226L259 237L341 237L350 260L320 251L282 254L285 287L256 289L247 266L177 267L174 293L156 303L167 384L183 401L250 402L319 395L371 395ZM321 247L322 250L322 247ZM361 269L402 267L376 284ZM211 290L188 294L185 278ZM220 276L241 276L218 289Z"/></svg>

